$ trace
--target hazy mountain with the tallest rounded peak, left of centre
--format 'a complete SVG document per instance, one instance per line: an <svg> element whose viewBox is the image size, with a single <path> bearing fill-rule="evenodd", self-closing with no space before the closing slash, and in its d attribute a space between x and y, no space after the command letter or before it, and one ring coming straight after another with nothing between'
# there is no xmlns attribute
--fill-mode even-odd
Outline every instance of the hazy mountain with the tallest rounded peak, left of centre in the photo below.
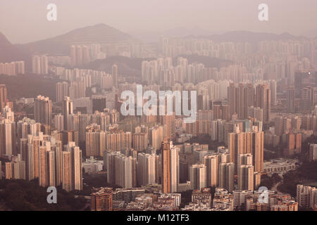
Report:
<svg viewBox="0 0 317 225"><path fill-rule="evenodd" d="M129 34L105 24L82 27L57 37L25 44L31 51L39 53L68 53L72 44L108 44L135 42Z"/></svg>

